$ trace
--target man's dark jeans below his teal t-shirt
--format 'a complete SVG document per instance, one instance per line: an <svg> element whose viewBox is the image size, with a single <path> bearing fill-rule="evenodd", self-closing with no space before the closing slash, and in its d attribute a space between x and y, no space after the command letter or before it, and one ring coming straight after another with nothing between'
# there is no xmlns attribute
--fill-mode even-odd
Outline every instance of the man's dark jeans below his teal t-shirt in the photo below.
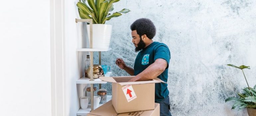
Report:
<svg viewBox="0 0 256 116"><path fill-rule="evenodd" d="M157 101L160 104L160 116L172 116L170 112L170 99L169 96L162 101Z"/></svg>

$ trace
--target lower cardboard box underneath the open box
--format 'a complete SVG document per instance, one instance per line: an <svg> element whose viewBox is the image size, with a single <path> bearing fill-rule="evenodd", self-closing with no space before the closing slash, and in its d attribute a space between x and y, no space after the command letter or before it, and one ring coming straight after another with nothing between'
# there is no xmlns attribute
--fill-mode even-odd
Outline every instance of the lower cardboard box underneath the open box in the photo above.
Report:
<svg viewBox="0 0 256 116"><path fill-rule="evenodd" d="M129 113L116 113L112 101L108 101L97 109L91 111L87 116L160 116L160 104L154 104L154 110L138 111L138 112L129 112Z"/></svg>

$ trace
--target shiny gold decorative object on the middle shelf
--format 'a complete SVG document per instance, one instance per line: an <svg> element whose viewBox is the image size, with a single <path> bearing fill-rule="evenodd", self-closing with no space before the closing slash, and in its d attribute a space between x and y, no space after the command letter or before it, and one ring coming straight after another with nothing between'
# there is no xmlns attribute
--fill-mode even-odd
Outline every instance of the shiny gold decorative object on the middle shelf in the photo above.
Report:
<svg viewBox="0 0 256 116"><path fill-rule="evenodd" d="M91 67L89 66L88 69L87 69L87 74L88 74L88 77L90 78L90 71L91 71ZM93 65L93 79L97 79L99 78L100 76L104 76L104 72L102 70L102 67L98 64L94 64Z"/></svg>

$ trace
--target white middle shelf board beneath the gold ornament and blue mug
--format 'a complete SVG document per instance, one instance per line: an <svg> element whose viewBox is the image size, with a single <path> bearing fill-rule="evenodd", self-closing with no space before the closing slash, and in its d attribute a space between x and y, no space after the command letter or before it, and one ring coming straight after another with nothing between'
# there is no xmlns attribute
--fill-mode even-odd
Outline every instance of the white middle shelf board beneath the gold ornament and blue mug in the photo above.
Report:
<svg viewBox="0 0 256 116"><path fill-rule="evenodd" d="M107 74L105 74L105 77L110 77L111 75L112 75L112 72L108 72ZM83 76L82 78L76 81L76 84L106 84L106 83L107 82L101 81L99 78L94 79L94 81L90 81L90 78L85 78L85 76Z"/></svg>

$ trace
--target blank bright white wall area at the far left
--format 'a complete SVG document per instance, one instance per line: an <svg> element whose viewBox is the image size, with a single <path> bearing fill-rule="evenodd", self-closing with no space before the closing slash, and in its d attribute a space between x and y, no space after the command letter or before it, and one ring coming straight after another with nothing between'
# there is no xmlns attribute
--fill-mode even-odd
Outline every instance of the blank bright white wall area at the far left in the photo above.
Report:
<svg viewBox="0 0 256 116"><path fill-rule="evenodd" d="M0 1L0 115L51 116L50 1Z"/></svg>

